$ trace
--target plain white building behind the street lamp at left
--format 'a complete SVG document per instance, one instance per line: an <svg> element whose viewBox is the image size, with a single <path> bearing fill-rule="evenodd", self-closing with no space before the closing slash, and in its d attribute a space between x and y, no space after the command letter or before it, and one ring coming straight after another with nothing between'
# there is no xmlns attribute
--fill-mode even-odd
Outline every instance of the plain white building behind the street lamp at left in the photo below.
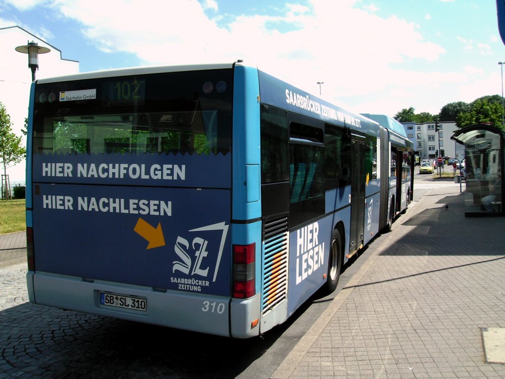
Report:
<svg viewBox="0 0 505 379"><path fill-rule="evenodd" d="M28 117L28 101L32 72L28 68L28 54L18 53L17 46L36 42L39 46L51 51L38 56L39 70L35 72L35 79L52 76L79 73L79 62L62 59L61 51L36 35L12 26L0 28L0 102L4 104L7 113L11 116L12 130L16 135L22 136L21 128L25 118ZM26 140L23 137L23 144ZM3 174L3 172L2 172ZM25 162L21 162L7 169L11 185L25 182Z"/></svg>

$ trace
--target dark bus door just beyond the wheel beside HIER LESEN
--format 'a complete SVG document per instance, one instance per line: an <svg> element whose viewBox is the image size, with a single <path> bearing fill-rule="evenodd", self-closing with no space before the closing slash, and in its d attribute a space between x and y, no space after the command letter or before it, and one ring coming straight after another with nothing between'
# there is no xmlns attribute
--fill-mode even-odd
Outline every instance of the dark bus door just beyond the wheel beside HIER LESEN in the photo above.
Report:
<svg viewBox="0 0 505 379"><path fill-rule="evenodd" d="M365 137L352 134L351 217L349 256L363 245L365 225Z"/></svg>

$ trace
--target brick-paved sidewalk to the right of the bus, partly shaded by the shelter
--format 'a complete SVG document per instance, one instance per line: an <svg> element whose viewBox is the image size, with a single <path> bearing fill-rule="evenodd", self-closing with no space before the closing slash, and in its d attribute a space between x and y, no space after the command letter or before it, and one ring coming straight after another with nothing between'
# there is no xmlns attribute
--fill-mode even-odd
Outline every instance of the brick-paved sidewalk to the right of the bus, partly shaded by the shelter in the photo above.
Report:
<svg viewBox="0 0 505 379"><path fill-rule="evenodd" d="M481 337L505 327L504 231L503 217L464 217L459 185L432 189L271 377L505 377Z"/></svg>

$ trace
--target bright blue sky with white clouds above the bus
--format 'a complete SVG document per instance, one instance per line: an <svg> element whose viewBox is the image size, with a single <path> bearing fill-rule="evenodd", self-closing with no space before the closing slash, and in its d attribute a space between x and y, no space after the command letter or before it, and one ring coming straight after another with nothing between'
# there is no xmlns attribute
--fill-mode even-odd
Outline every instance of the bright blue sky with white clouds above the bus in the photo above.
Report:
<svg viewBox="0 0 505 379"><path fill-rule="evenodd" d="M502 93L494 0L0 0L9 26L80 72L242 59L358 113Z"/></svg>

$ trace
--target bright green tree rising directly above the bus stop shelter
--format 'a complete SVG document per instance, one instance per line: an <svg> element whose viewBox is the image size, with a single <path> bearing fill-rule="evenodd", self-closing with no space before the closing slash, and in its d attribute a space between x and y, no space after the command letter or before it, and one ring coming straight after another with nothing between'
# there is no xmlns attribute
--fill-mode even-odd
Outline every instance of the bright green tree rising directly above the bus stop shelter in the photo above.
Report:
<svg viewBox="0 0 505 379"><path fill-rule="evenodd" d="M481 98L482 99L482 98ZM489 103L487 100L475 100L469 112L460 112L456 116L456 126L464 128L475 124L491 124L499 129L503 129L501 119L503 108L500 103Z"/></svg>

